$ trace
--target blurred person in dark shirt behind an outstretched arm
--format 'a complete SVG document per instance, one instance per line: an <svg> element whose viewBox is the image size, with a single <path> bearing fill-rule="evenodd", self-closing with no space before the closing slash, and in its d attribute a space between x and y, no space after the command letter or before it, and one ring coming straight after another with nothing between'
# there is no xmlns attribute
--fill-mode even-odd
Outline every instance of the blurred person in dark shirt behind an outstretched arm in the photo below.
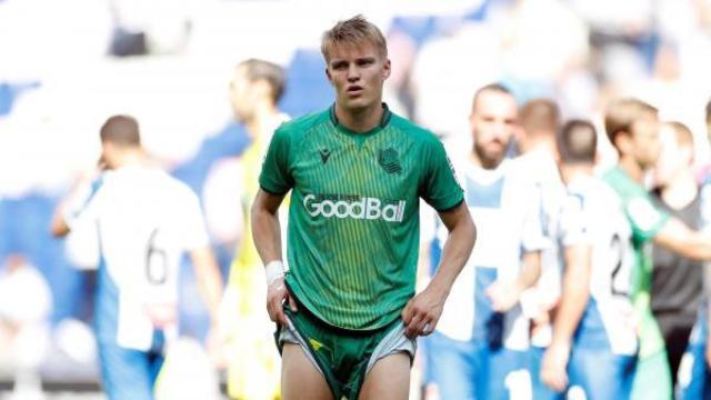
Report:
<svg viewBox="0 0 711 400"><path fill-rule="evenodd" d="M681 122L665 122L660 141L652 192L657 207L694 230L703 229L693 134ZM653 263L652 312L664 338L671 379L675 382L703 297L703 263L660 246L653 248Z"/></svg>

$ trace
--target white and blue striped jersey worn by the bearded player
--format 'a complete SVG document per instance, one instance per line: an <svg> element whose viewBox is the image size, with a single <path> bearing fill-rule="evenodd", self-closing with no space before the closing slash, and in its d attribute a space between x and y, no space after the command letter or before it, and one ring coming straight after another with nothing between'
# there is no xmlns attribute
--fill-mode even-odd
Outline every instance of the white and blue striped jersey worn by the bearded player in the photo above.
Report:
<svg viewBox="0 0 711 400"><path fill-rule="evenodd" d="M550 244L543 234L540 191L524 179L515 163L504 160L497 169L485 170L464 161L457 168L477 224L477 246L452 287L438 331L462 341L490 341L498 334L505 348L525 350L529 321L520 304L503 316L497 314L485 294L498 279L511 281L518 277L524 252ZM445 234L441 227L440 243Z"/></svg>

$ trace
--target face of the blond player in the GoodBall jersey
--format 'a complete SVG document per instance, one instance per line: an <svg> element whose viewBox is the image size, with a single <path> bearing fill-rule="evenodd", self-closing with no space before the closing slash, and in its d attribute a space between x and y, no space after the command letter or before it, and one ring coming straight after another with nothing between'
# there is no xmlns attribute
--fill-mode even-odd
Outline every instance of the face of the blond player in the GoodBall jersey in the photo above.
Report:
<svg viewBox="0 0 711 400"><path fill-rule="evenodd" d="M331 49L326 74L336 89L336 102L347 111L380 106L390 60L371 42L344 43Z"/></svg>

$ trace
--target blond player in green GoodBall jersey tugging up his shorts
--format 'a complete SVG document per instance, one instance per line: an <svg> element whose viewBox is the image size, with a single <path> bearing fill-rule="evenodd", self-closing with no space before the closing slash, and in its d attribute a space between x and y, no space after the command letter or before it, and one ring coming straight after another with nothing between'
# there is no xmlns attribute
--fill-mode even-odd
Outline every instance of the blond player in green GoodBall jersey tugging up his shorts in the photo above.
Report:
<svg viewBox="0 0 711 400"><path fill-rule="evenodd" d="M358 16L323 36L334 104L277 130L252 207L279 324L284 399L407 399L414 339L429 334L475 228L442 144L382 103L385 40ZM291 191L287 257L277 213ZM414 293L419 199L450 230Z"/></svg>

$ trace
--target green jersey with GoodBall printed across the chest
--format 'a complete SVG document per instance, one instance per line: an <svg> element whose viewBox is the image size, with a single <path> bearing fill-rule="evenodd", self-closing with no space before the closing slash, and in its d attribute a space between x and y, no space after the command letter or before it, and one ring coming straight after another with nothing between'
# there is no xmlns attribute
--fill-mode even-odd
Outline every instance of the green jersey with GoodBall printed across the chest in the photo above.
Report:
<svg viewBox="0 0 711 400"><path fill-rule="evenodd" d="M324 322L371 330L414 294L419 199L444 211L463 193L434 134L392 114L369 132L341 126L334 108L281 126L259 183L292 190L287 284Z"/></svg>

